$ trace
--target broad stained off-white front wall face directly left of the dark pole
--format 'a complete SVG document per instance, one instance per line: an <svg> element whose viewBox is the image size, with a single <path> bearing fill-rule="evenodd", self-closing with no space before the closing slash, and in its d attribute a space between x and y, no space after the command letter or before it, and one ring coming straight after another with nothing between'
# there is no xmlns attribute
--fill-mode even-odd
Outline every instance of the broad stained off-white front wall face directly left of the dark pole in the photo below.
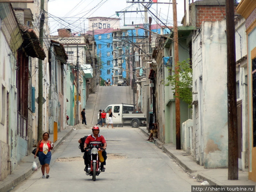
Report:
<svg viewBox="0 0 256 192"><path fill-rule="evenodd" d="M204 167L227 167L226 21L202 23ZM201 94L201 93L200 93ZM202 101L202 100L201 100Z"/></svg>

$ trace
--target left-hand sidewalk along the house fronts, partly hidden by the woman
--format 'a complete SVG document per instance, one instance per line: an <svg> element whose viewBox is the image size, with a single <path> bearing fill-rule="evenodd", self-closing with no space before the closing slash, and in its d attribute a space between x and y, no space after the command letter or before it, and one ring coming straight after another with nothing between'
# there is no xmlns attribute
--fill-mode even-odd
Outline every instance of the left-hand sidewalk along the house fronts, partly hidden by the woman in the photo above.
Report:
<svg viewBox="0 0 256 192"><path fill-rule="evenodd" d="M54 143L54 149L56 150L65 138L73 131L73 126L67 126L66 129L58 132L57 141ZM50 138L53 139L53 134L50 134ZM19 165L8 175L3 181L0 181L0 192L7 192L11 190L14 186L18 185L20 182L28 178L34 171L32 170L32 163L35 161L37 166L40 166L38 158L34 158L34 155L24 157ZM40 167L38 167L40 169Z"/></svg>

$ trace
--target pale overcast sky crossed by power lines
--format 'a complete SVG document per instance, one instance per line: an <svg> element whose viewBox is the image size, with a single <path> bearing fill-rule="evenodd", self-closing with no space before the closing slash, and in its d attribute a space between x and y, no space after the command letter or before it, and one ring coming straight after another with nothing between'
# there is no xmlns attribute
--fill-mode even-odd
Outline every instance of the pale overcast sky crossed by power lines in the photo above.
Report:
<svg viewBox="0 0 256 192"><path fill-rule="evenodd" d="M184 16L184 0L176 1L178 25L180 25ZM50 0L48 3L48 15L51 34L57 35L57 29L61 28L69 28L72 32L86 31L88 29L87 18L97 16L120 18L123 26L124 14L120 13L118 17L116 11L144 10L143 5L139 3L126 2L126 0ZM158 0L158 2L170 3L172 1ZM168 26L173 26L172 4L152 4L150 11ZM153 24L161 23L150 12L148 12L149 16L152 17ZM134 24L144 23L144 12L125 13L125 24L132 24L132 21Z"/></svg>

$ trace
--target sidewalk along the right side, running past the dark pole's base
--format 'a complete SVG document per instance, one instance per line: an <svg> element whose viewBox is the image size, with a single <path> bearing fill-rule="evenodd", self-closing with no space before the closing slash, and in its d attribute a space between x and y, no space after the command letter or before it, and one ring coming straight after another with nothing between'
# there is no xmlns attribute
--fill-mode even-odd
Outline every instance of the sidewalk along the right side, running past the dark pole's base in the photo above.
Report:
<svg viewBox="0 0 256 192"><path fill-rule="evenodd" d="M139 128L145 135L149 136L147 128ZM238 171L238 180L227 180L228 169L204 169L193 161L193 157L183 150L176 150L172 143L164 144L158 139L153 139L155 145L162 148L163 152L169 155L178 165L181 166L188 174L203 182L208 181L209 185L255 185L256 182L248 180L248 172Z"/></svg>

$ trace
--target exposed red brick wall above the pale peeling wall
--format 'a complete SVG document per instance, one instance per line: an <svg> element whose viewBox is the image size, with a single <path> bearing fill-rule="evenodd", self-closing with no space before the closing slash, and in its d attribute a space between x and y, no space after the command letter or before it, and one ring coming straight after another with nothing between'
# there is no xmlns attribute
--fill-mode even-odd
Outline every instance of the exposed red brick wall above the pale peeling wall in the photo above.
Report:
<svg viewBox="0 0 256 192"><path fill-rule="evenodd" d="M225 6L219 5L197 5L196 6L196 27L201 27L203 21L219 21L226 17ZM236 6L234 7L236 14Z"/></svg>

